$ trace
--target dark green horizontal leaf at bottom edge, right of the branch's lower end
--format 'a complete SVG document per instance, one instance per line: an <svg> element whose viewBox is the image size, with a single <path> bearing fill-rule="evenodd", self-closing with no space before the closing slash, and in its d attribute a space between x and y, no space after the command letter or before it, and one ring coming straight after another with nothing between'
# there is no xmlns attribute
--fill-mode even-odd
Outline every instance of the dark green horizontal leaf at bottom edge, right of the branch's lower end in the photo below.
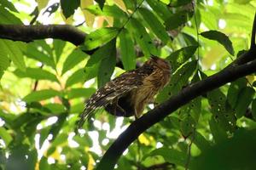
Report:
<svg viewBox="0 0 256 170"><path fill-rule="evenodd" d="M167 162L174 163L180 166L184 166L186 162L185 153L178 150L166 148L166 147L151 151L147 156L143 157L143 160L148 156L163 156L163 158Z"/></svg>

